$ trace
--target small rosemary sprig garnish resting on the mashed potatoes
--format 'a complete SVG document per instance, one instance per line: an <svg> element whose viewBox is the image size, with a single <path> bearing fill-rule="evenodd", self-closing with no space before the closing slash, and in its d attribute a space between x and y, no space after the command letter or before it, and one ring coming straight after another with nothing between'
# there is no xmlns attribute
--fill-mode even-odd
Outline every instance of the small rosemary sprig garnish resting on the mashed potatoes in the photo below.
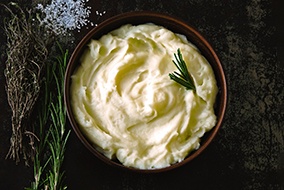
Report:
<svg viewBox="0 0 284 190"><path fill-rule="evenodd" d="M194 90L195 85L192 76L189 74L185 61L183 60L180 49L177 50L177 54L174 54L175 61L173 63L178 68L179 72L174 71L169 76L172 80L184 86L187 90Z"/></svg>

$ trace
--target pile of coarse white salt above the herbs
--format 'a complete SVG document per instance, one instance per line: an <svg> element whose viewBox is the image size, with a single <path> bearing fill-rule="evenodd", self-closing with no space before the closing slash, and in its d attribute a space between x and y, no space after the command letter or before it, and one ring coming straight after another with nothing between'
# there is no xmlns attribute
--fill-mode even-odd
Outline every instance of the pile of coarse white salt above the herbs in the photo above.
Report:
<svg viewBox="0 0 284 190"><path fill-rule="evenodd" d="M88 0L52 0L45 7L38 4L37 9L44 13L41 22L55 34L66 34L68 31L78 29L90 23L88 17L91 7L85 7ZM93 25L93 23L90 23Z"/></svg>

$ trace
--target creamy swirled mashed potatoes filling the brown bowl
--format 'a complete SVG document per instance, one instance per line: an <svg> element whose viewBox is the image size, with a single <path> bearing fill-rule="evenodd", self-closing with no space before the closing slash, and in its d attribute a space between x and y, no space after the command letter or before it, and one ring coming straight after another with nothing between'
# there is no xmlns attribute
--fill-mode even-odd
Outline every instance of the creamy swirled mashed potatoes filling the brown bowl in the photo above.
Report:
<svg viewBox="0 0 284 190"><path fill-rule="evenodd" d="M196 91L169 78L180 48ZM186 37L154 24L124 25L89 43L72 76L81 130L125 166L163 168L199 148L216 124L212 68Z"/></svg>

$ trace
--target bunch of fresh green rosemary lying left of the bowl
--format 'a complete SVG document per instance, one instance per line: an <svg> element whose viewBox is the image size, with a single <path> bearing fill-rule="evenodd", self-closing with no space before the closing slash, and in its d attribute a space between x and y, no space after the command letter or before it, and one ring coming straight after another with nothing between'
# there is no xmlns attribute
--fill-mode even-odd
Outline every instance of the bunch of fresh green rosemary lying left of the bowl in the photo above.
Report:
<svg viewBox="0 0 284 190"><path fill-rule="evenodd" d="M39 105L37 154L34 161L34 182L28 190L66 189L62 164L70 130L66 131L66 110L63 102L64 74L68 51L46 68L43 98ZM55 91L54 86L56 87ZM51 103L50 103L51 102Z"/></svg>

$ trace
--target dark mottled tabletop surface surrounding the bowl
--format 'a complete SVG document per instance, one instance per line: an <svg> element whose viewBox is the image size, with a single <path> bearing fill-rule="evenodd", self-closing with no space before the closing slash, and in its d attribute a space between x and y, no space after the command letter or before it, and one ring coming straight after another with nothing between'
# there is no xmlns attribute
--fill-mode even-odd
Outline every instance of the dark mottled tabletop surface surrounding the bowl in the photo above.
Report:
<svg viewBox="0 0 284 190"><path fill-rule="evenodd" d="M68 189L284 189L284 19L282 0L90 0L90 20L150 10L183 19L216 50L228 83L225 120L212 144L182 168L139 174L106 165L72 131L64 170ZM1 27L5 17L1 10ZM103 16L96 15L106 11ZM5 94L5 36L0 27L0 189L23 189L32 168L5 156L10 108ZM70 36L70 50L91 27ZM67 128L71 128L69 125Z"/></svg>

